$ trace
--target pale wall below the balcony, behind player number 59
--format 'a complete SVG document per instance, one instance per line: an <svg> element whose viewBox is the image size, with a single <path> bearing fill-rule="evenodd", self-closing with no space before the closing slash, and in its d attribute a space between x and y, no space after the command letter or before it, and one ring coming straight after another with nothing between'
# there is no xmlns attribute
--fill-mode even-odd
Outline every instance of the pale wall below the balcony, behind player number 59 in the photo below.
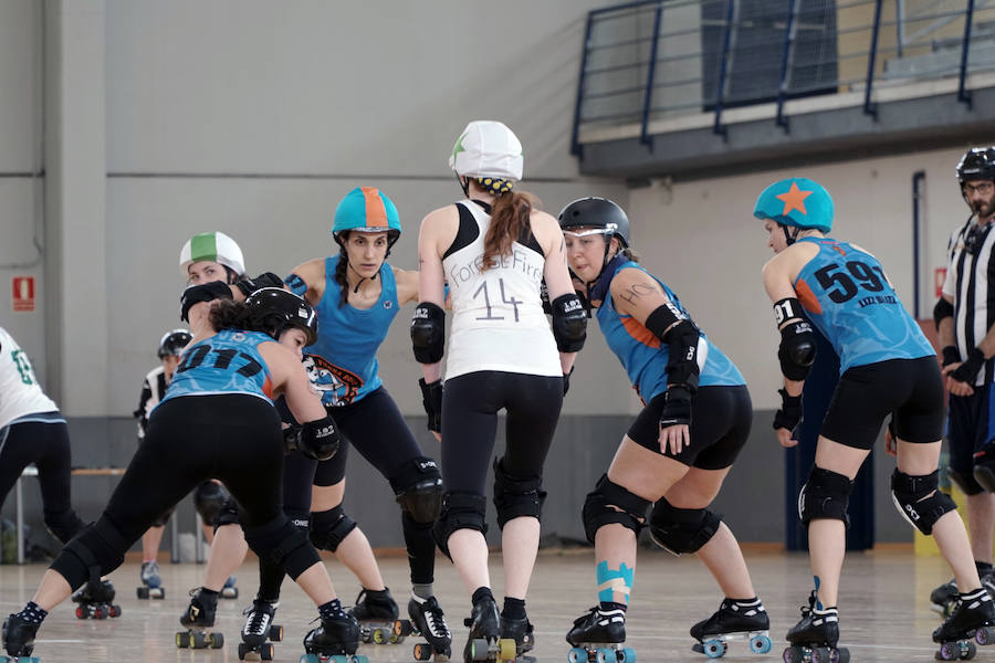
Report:
<svg viewBox="0 0 995 663"><path fill-rule="evenodd" d="M820 182L836 203L834 236L878 256L911 312L912 175L925 171L920 317L931 318L933 270L945 266L950 232L968 214L954 177L963 151L954 147L632 190L635 246L743 371L754 407L776 409L779 337L761 281L773 253L752 214L756 197L785 177Z"/></svg>

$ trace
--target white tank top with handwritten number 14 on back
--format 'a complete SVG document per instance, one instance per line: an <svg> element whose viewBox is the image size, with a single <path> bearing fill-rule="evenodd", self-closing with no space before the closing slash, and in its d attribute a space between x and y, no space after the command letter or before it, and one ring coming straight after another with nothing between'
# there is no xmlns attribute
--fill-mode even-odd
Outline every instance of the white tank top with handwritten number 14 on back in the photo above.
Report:
<svg viewBox="0 0 995 663"><path fill-rule="evenodd" d="M559 354L540 298L541 250L513 242L510 255L481 271L491 218L469 200L457 208L460 231L454 250L442 260L453 311L446 379L481 370L561 377Z"/></svg>

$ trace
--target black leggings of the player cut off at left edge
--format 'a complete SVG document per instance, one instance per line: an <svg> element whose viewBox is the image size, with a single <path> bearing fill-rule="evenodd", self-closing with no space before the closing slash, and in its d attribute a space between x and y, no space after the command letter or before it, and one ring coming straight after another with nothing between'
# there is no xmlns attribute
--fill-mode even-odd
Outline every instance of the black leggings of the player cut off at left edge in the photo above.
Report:
<svg viewBox="0 0 995 663"><path fill-rule="evenodd" d="M0 507L31 463L38 467L45 525L64 544L83 523L70 502L72 450L59 412L30 414L0 429Z"/></svg>

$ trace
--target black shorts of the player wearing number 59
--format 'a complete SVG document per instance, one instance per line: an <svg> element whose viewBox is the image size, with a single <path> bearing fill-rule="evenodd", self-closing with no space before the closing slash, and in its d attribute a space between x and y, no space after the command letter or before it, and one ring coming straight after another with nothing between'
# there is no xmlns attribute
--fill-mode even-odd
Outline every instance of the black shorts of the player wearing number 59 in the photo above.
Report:
<svg viewBox="0 0 995 663"><path fill-rule="evenodd" d="M852 366L839 378L820 434L870 449L884 419L894 413L905 442L939 442L943 434L943 378L934 356Z"/></svg>

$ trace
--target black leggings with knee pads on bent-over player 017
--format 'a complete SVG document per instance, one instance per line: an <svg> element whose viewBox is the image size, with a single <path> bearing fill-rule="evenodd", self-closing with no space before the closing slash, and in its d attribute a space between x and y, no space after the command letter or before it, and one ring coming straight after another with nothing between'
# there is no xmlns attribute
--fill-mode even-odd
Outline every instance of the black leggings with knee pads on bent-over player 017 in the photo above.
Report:
<svg viewBox="0 0 995 663"><path fill-rule="evenodd" d="M250 547L296 578L320 561L282 511L283 436L271 404L254 396L188 396L156 408L145 442L101 519L52 564L73 588L106 575L156 517L200 482L218 478L240 506Z"/></svg>

